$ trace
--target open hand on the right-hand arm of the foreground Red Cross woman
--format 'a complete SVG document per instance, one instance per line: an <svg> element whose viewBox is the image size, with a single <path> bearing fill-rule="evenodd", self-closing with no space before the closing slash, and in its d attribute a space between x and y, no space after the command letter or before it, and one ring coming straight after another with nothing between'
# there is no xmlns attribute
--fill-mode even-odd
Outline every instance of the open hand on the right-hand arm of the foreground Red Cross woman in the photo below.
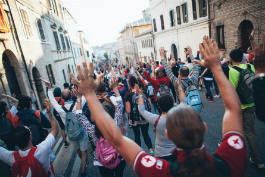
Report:
<svg viewBox="0 0 265 177"><path fill-rule="evenodd" d="M203 41L203 45L200 44L201 54L204 56L204 61L193 60L193 62L209 69L215 69L221 67L220 55L217 43L212 44L210 40Z"/></svg>

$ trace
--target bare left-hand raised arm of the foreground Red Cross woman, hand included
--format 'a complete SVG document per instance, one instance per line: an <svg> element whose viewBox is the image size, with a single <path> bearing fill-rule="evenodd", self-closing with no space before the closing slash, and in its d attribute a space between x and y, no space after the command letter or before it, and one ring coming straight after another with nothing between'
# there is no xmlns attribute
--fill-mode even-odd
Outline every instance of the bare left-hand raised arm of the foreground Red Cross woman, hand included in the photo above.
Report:
<svg viewBox="0 0 265 177"><path fill-rule="evenodd" d="M77 66L78 75L80 76L80 81L78 81L75 76L71 73L71 77L76 82L79 91L85 96L89 109L94 116L95 122L100 129L103 136L111 143L111 145L117 149L121 156L133 167L133 162L136 156L142 148L139 147L134 141L127 137L122 136L116 123L110 117L110 115L104 110L101 103L96 97L95 90L99 83L95 82L93 77L93 64L90 63L89 74L87 64L83 63L83 72L80 66ZM84 74L83 74L84 73Z"/></svg>

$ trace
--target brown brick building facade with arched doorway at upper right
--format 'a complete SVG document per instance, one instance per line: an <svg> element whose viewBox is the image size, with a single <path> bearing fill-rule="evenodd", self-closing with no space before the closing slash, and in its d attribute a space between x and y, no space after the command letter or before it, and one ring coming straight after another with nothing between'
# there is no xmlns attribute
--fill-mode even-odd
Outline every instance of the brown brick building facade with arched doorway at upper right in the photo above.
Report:
<svg viewBox="0 0 265 177"><path fill-rule="evenodd" d="M211 0L209 11L210 36L221 51L228 51L227 55L235 41L244 50L250 47L249 35L254 27L255 42L261 42L265 31L264 0Z"/></svg>

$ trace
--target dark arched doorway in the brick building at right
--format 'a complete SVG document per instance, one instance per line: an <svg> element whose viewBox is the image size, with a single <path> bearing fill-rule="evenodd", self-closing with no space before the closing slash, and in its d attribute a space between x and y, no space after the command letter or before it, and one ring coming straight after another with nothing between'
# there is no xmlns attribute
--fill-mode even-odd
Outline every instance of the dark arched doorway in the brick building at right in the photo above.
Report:
<svg viewBox="0 0 265 177"><path fill-rule="evenodd" d="M239 40L241 41L241 47L243 49L247 49L251 46L249 41L249 35L253 28L253 24L249 20L244 20L239 25Z"/></svg>

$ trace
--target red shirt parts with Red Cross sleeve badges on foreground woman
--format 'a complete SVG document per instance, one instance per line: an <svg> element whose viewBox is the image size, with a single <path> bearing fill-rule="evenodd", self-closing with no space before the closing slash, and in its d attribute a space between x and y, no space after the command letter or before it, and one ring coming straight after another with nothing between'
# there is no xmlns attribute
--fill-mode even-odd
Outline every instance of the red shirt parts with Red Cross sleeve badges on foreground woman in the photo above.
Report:
<svg viewBox="0 0 265 177"><path fill-rule="evenodd" d="M176 153L179 162L183 162L188 155L185 151L177 150ZM244 176L247 168L247 152L243 135L238 132L226 133L216 154L230 167L231 177ZM213 156L209 154L207 156L214 165ZM144 151L136 156L133 169L139 177L171 177L170 166L166 160L150 156Z"/></svg>

